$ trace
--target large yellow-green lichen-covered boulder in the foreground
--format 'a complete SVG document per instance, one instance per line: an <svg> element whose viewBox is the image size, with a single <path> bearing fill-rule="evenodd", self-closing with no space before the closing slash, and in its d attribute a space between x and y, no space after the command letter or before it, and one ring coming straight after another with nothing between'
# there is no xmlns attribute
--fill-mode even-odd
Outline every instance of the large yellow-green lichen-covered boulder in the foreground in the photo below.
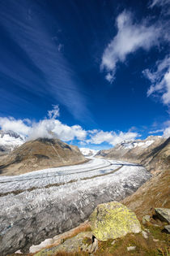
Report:
<svg viewBox="0 0 170 256"><path fill-rule="evenodd" d="M90 216L90 223L93 235L100 241L141 231L141 225L134 212L120 202L98 205Z"/></svg>

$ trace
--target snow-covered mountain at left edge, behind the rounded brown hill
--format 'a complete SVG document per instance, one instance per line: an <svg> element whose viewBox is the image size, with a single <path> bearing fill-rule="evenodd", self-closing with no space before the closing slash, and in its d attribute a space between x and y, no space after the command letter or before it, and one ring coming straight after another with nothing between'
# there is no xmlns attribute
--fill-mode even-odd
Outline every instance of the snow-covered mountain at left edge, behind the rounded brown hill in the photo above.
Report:
<svg viewBox="0 0 170 256"><path fill-rule="evenodd" d="M0 130L0 155L8 154L17 146L22 145L24 141L25 137L19 135L17 132Z"/></svg>

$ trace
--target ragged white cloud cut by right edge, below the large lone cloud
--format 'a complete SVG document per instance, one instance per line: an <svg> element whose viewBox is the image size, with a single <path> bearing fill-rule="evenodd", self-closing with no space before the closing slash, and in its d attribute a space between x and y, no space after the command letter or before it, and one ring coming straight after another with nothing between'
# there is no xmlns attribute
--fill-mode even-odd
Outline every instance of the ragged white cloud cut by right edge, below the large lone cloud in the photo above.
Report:
<svg viewBox="0 0 170 256"><path fill-rule="evenodd" d="M154 69L143 71L144 76L151 81L147 96L159 96L165 105L170 104L170 55L157 61Z"/></svg>

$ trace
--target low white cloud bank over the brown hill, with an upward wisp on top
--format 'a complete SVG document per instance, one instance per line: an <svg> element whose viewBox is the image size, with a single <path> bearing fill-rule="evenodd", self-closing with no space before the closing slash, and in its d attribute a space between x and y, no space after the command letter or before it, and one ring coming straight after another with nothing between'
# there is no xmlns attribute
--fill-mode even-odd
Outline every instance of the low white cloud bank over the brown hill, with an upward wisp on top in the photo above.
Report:
<svg viewBox="0 0 170 256"><path fill-rule="evenodd" d="M36 140L39 137L57 137L62 141L74 139L83 141L87 137L87 131L80 125L68 126L56 119L59 113L58 106L48 111L50 119L43 119L39 122L32 122L30 119L14 119L12 117L1 117L0 127L4 131L12 130L28 137L28 140Z"/></svg>

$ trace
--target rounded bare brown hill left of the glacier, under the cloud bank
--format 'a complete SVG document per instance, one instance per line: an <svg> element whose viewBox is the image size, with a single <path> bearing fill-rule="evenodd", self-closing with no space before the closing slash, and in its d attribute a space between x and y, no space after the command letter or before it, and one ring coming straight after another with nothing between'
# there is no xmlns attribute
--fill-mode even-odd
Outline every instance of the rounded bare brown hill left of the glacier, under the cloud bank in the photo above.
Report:
<svg viewBox="0 0 170 256"><path fill-rule="evenodd" d="M19 175L49 167L73 165L87 161L75 145L58 139L25 142L0 162L0 175Z"/></svg>

